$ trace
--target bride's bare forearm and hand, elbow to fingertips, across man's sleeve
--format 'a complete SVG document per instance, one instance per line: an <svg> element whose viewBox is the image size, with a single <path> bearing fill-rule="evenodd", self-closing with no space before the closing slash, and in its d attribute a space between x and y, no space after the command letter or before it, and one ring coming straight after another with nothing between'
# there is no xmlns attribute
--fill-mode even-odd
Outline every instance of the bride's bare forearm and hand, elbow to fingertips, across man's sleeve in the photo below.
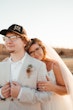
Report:
<svg viewBox="0 0 73 110"><path fill-rule="evenodd" d="M38 82L38 88L39 91L51 91L51 92L55 92L59 95L64 95L67 93L65 86L60 86L57 84L54 84L52 81L49 81L48 77L47 77L47 82Z"/></svg>

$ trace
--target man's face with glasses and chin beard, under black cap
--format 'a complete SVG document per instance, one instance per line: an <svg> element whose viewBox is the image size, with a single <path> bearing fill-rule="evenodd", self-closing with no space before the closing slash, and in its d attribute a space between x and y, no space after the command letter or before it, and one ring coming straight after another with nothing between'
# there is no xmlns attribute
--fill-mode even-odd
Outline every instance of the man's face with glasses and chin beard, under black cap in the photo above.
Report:
<svg viewBox="0 0 73 110"><path fill-rule="evenodd" d="M16 35L15 33L7 33L4 40L5 46L10 53L19 52L21 50L24 51L25 44L19 35Z"/></svg>

